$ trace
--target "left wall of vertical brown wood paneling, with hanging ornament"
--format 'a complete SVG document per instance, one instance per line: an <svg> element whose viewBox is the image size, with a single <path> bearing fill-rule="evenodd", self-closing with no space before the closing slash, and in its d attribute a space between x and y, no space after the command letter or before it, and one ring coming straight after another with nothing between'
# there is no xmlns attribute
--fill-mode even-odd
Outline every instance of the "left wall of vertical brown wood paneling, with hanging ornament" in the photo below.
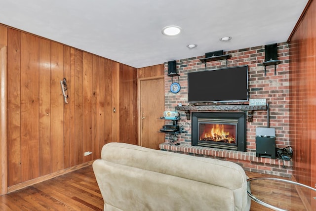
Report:
<svg viewBox="0 0 316 211"><path fill-rule="evenodd" d="M123 125L128 128L125 139L131 143L137 140L135 68L121 65L120 69L118 62L4 29L8 30L10 84L8 185L17 187L100 158L105 143L120 141L121 110L125 115L122 120L127 120ZM1 42L6 37L2 31L0 26ZM64 103L60 86L64 77L68 104ZM84 158L85 149L93 156Z"/></svg>

